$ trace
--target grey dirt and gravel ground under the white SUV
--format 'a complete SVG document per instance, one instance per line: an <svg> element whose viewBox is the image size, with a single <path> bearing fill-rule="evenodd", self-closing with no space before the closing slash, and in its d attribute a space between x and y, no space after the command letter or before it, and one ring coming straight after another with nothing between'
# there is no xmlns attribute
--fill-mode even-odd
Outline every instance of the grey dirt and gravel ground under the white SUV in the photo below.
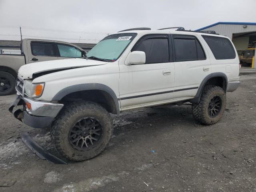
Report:
<svg viewBox="0 0 256 192"><path fill-rule="evenodd" d="M1 192L256 191L255 74L241 76L215 125L195 122L190 106L124 112L113 116L114 136L100 156L68 165L32 154L19 132L58 155L48 131L14 119L0 100L0 185L13 184Z"/></svg>

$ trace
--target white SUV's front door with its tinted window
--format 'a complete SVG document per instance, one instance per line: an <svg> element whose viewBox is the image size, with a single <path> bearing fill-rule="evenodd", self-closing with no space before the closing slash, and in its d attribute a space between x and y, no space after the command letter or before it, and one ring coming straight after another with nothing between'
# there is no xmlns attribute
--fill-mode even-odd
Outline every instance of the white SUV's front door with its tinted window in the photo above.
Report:
<svg viewBox="0 0 256 192"><path fill-rule="evenodd" d="M146 63L120 68L121 108L136 108L172 99L174 63L170 34L147 35L131 51L144 51Z"/></svg>

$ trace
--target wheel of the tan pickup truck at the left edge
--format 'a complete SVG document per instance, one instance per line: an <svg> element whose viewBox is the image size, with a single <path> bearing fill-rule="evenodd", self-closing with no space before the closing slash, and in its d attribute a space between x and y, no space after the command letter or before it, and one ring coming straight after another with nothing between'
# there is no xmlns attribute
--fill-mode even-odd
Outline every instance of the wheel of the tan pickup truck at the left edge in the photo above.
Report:
<svg viewBox="0 0 256 192"><path fill-rule="evenodd" d="M0 72L0 96L10 95L15 90L15 78L8 72Z"/></svg>

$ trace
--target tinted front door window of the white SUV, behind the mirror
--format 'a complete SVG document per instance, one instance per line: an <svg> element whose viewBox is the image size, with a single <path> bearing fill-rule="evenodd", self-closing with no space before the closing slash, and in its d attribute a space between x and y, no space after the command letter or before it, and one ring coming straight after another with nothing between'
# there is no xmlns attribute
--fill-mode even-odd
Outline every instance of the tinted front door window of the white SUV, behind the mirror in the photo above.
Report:
<svg viewBox="0 0 256 192"><path fill-rule="evenodd" d="M147 38L139 42L133 51L144 51L146 54L146 64L169 61L168 38Z"/></svg>

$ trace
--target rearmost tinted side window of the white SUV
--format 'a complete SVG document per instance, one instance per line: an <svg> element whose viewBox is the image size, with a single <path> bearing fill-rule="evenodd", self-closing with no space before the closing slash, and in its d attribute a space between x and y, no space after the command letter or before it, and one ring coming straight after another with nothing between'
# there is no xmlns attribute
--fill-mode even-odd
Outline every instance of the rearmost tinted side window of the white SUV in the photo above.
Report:
<svg viewBox="0 0 256 192"><path fill-rule="evenodd" d="M216 59L234 59L236 53L228 38L202 35Z"/></svg>

